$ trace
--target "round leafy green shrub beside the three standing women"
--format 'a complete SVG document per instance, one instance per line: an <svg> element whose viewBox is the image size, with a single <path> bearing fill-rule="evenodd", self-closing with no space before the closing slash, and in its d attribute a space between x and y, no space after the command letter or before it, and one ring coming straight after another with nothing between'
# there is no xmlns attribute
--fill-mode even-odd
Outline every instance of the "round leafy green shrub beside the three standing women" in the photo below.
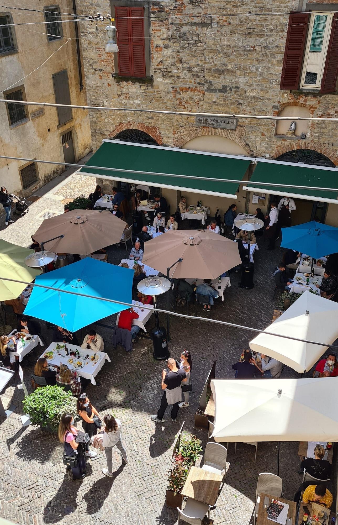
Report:
<svg viewBox="0 0 338 525"><path fill-rule="evenodd" d="M37 388L25 397L23 407L32 424L40 425L41 430L57 432L60 419L66 412L76 417L76 398L59 386Z"/></svg>

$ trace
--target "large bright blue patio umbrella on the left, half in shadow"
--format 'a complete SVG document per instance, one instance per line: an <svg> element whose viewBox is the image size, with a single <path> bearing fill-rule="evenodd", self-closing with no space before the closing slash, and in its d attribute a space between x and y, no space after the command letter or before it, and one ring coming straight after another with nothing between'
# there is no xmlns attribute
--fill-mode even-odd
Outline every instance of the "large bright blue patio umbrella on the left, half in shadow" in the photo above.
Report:
<svg viewBox="0 0 338 525"><path fill-rule="evenodd" d="M36 284L117 301L132 302L134 270L87 257L40 275ZM125 310L123 304L33 287L25 314L76 332Z"/></svg>

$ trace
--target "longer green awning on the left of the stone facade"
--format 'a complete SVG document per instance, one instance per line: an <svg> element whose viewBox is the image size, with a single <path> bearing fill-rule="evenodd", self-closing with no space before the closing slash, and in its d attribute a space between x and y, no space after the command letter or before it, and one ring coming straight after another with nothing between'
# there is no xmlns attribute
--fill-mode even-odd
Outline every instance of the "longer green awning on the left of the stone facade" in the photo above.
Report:
<svg viewBox="0 0 338 525"><path fill-rule="evenodd" d="M104 140L79 173L111 178L114 181L235 199L239 183L223 182L223 180L241 181L252 160L254 159L248 157ZM102 170L102 167L114 168L118 171ZM135 173L119 170L132 170ZM213 177L218 180L208 181L200 177Z"/></svg>

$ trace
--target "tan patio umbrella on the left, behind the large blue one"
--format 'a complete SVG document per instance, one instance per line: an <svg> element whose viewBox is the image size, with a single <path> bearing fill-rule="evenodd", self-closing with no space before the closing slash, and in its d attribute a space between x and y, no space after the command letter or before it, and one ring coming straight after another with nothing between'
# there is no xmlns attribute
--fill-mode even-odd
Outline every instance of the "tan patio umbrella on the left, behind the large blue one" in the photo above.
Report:
<svg viewBox="0 0 338 525"><path fill-rule="evenodd" d="M88 255L104 246L119 243L125 222L107 211L74 209L45 219L33 235L45 249L61 254ZM63 235L63 238L57 238ZM47 241L49 241L47 243Z"/></svg>

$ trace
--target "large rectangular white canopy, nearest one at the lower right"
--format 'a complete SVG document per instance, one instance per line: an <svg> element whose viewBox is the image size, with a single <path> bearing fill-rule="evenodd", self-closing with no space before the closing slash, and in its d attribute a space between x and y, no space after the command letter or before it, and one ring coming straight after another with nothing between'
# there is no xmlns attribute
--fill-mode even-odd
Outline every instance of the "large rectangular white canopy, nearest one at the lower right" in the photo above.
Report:
<svg viewBox="0 0 338 525"><path fill-rule="evenodd" d="M213 379L213 437L218 443L338 441L337 388L338 377Z"/></svg>

